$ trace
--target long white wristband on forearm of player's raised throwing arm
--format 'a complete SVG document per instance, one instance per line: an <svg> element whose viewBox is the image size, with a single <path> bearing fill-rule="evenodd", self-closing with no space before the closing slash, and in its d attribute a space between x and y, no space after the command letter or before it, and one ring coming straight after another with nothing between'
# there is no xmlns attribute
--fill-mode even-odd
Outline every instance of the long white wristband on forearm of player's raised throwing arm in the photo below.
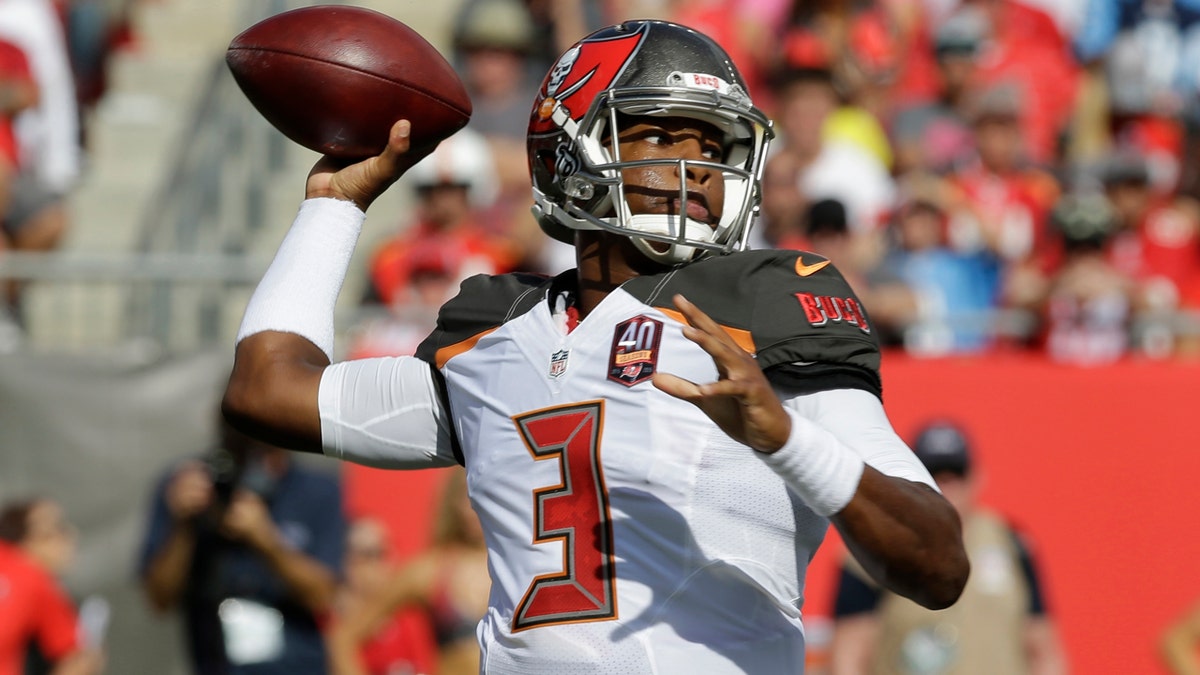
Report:
<svg viewBox="0 0 1200 675"><path fill-rule="evenodd" d="M246 304L238 341L264 330L294 333L334 358L334 306L366 214L353 202L305 199Z"/></svg>

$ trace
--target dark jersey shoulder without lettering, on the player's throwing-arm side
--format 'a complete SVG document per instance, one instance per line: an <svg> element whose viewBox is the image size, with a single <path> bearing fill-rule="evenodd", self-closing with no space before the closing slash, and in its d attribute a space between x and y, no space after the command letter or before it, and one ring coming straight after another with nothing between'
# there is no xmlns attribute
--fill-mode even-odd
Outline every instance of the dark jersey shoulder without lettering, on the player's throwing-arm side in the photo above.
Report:
<svg viewBox="0 0 1200 675"><path fill-rule="evenodd" d="M458 294L438 310L438 323L418 347L416 357L437 365L438 351L467 342L545 299L553 279L536 274L479 274L458 286Z"/></svg>

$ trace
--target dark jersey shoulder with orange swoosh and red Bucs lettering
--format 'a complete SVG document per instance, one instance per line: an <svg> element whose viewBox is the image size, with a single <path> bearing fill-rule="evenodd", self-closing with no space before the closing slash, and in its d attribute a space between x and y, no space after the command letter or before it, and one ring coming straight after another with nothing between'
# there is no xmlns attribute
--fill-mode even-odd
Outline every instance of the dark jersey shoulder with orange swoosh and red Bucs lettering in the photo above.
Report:
<svg viewBox="0 0 1200 675"><path fill-rule="evenodd" d="M863 304L828 259L808 251L760 250L706 258L637 277L623 288L674 312L682 293L767 370L785 364L846 364L877 380L878 340Z"/></svg>

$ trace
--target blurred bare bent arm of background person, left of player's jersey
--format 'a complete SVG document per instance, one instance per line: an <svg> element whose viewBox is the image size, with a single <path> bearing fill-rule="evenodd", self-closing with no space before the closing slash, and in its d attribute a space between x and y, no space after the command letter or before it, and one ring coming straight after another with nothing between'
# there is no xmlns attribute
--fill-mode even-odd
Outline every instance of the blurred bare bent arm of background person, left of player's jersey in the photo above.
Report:
<svg viewBox="0 0 1200 675"><path fill-rule="evenodd" d="M379 595L337 616L325 638L332 675L366 675L359 649L396 610L428 603L428 589L433 586L437 566L433 555L414 558L396 571Z"/></svg>

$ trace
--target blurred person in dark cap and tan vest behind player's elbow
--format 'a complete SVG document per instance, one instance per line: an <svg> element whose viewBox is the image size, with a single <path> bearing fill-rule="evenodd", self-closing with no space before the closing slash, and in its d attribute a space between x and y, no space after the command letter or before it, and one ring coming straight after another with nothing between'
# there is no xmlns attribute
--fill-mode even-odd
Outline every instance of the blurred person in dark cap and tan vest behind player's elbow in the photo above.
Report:
<svg viewBox="0 0 1200 675"><path fill-rule="evenodd" d="M930 611L880 589L847 558L834 608L832 675L1064 674L1028 543L978 502L980 477L966 431L932 420L912 447L962 516L971 579L954 607Z"/></svg>

